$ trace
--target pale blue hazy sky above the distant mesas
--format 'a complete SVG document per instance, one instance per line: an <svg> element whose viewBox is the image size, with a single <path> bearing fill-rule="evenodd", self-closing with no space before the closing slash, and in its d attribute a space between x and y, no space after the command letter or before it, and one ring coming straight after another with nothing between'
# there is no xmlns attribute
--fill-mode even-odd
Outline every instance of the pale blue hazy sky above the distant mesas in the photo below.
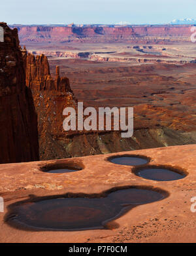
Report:
<svg viewBox="0 0 196 256"><path fill-rule="evenodd" d="M160 24L195 18L195 0L7 0L0 21L8 24Z"/></svg>

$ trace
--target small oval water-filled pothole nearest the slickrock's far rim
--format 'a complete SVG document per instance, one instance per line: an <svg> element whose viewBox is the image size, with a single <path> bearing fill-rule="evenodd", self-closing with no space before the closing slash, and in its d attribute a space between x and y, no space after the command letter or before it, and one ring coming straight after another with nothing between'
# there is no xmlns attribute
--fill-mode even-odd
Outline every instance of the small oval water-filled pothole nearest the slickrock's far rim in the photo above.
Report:
<svg viewBox="0 0 196 256"><path fill-rule="evenodd" d="M150 158L146 156L135 156L135 155L122 155L112 156L108 158L113 164L120 164L125 166L140 166L150 162Z"/></svg>

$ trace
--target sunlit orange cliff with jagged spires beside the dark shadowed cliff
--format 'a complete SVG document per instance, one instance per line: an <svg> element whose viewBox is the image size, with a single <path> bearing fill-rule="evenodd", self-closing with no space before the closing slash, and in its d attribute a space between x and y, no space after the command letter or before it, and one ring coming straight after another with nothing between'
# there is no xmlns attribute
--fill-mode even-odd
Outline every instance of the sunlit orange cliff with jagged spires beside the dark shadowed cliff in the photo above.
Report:
<svg viewBox="0 0 196 256"><path fill-rule="evenodd" d="M63 130L63 109L74 107L76 99L67 77L60 77L56 67L56 77L50 75L48 59L43 54L34 56L22 50L26 69L26 84L31 88L38 117L39 155L41 159L67 157L66 132Z"/></svg>

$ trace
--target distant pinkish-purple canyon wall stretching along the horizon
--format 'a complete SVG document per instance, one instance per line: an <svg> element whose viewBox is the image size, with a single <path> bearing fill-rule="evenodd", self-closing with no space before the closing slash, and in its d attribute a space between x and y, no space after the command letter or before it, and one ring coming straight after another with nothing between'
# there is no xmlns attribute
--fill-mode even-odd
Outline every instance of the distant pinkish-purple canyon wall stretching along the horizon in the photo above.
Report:
<svg viewBox="0 0 196 256"><path fill-rule="evenodd" d="M17 27L21 43L163 43L190 41L191 25L146 26L22 26Z"/></svg>

